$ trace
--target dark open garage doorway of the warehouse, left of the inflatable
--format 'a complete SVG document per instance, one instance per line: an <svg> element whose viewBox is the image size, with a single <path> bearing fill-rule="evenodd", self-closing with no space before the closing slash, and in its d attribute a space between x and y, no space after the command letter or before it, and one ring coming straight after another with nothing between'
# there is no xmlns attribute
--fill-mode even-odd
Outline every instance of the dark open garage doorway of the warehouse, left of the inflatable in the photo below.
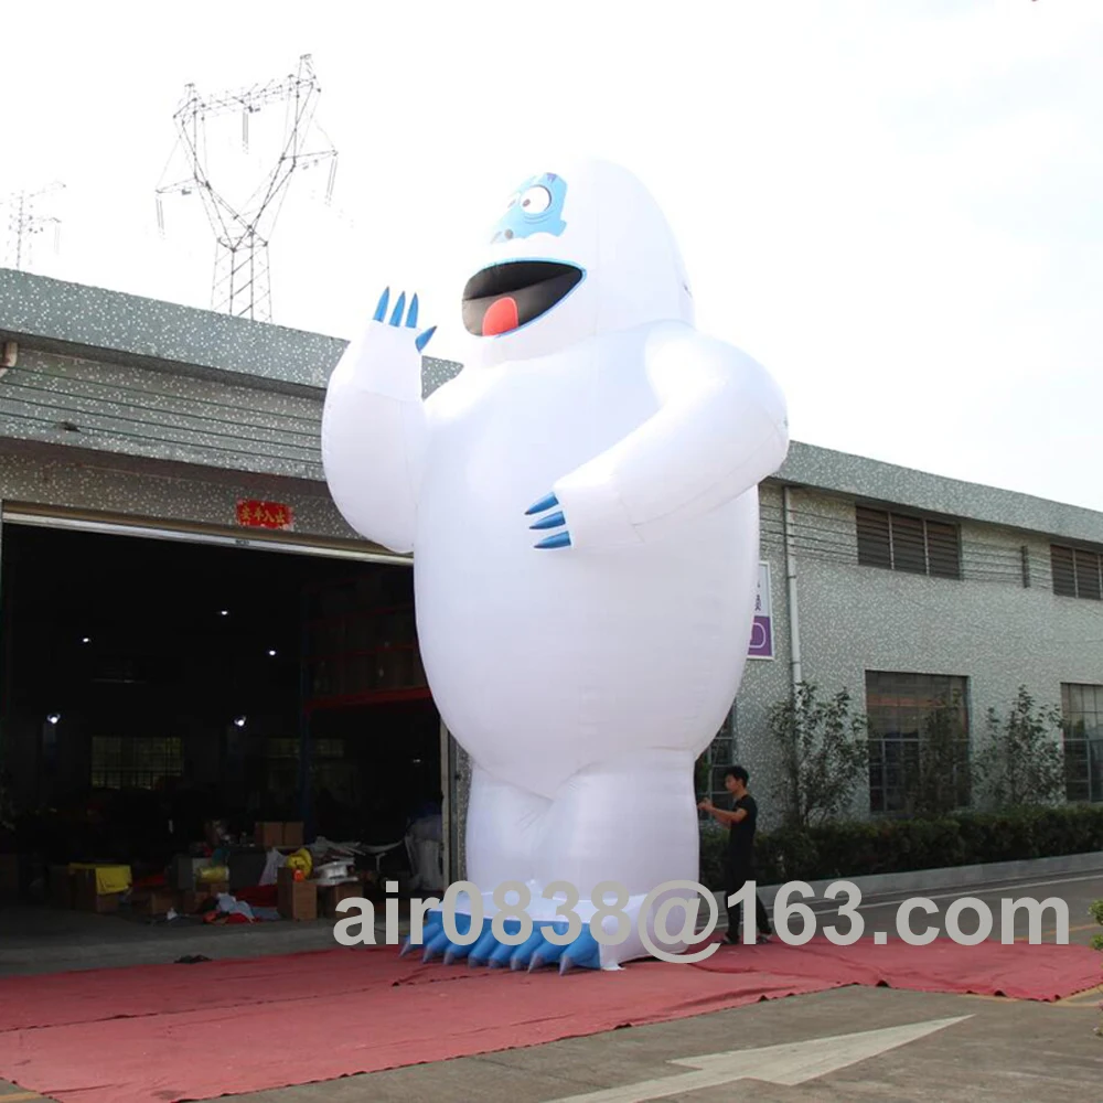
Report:
<svg viewBox="0 0 1103 1103"><path fill-rule="evenodd" d="M137 876L212 820L235 837L302 820L399 844L400 865L433 806L447 845L409 558L11 504L3 522L0 770L44 866Z"/></svg>

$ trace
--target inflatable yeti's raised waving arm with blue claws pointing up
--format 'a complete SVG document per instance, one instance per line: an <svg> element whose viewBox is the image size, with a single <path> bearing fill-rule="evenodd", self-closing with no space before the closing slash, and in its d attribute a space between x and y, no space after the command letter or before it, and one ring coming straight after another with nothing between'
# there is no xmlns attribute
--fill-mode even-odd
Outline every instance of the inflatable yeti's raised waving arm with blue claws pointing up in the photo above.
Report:
<svg viewBox="0 0 1103 1103"><path fill-rule="evenodd" d="M414 549L428 425L421 401L417 296L404 319L401 295L389 319L384 291L375 317L330 377L322 414L322 465L349 525L392 552ZM405 323L405 324L404 324Z"/></svg>

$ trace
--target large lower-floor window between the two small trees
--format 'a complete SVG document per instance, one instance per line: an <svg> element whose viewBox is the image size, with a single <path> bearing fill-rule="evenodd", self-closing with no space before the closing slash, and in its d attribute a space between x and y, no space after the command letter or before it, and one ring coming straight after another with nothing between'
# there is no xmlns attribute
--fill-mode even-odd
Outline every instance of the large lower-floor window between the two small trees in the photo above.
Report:
<svg viewBox="0 0 1103 1103"><path fill-rule="evenodd" d="M866 715L872 812L950 812L968 805L965 678L867 671Z"/></svg>

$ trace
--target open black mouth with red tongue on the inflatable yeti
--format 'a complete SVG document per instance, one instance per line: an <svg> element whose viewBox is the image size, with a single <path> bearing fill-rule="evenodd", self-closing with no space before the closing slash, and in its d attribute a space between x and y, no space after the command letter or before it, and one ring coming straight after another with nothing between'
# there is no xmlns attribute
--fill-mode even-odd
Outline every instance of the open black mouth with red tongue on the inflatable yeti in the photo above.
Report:
<svg viewBox="0 0 1103 1103"><path fill-rule="evenodd" d="M463 324L481 338L508 333L547 313L581 279L580 269L552 260L491 265L463 289Z"/></svg>

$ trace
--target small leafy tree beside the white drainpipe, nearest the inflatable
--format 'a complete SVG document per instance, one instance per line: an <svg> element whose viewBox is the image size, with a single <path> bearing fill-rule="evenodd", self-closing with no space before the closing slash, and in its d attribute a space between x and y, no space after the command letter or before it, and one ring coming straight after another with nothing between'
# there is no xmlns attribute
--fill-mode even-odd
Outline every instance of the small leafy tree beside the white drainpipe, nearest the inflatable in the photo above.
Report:
<svg viewBox="0 0 1103 1103"><path fill-rule="evenodd" d="M843 689L828 700L817 694L814 685L802 682L769 716L782 767L774 796L789 825L800 829L847 811L869 762L868 722L852 716L849 693Z"/></svg>

